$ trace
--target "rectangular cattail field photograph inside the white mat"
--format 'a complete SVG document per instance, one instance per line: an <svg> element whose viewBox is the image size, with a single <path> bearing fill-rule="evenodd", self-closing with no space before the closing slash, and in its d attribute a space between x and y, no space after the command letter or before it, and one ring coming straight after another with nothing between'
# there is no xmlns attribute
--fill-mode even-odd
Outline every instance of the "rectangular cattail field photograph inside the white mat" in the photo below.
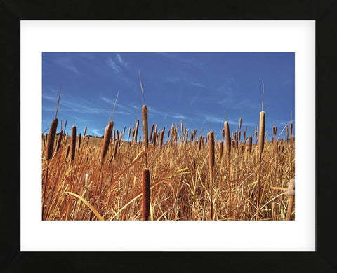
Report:
<svg viewBox="0 0 337 273"><path fill-rule="evenodd" d="M295 52L41 52L42 221L294 221Z"/></svg>

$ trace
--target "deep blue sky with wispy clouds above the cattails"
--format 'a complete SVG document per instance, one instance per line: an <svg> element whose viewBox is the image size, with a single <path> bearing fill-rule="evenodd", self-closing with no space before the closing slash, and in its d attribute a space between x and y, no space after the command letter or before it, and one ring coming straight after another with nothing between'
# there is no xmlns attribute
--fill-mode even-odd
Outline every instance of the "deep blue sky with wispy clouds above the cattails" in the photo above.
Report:
<svg viewBox="0 0 337 273"><path fill-rule="evenodd" d="M238 129L242 117L242 130L247 126L249 136L259 123L262 82L266 130L277 125L279 134L295 116L294 53L44 52L42 132L55 117L62 83L58 132L60 121L64 126L67 120L70 134L75 119L77 132L83 134L87 126L86 134L101 136L119 92L114 129L121 132L125 125L127 135L128 127L132 129L137 118L141 121L138 70L149 131L152 124L161 130L165 123L167 132L172 123L182 121L197 134L204 128L204 136L212 129L220 139L226 113L230 132Z"/></svg>

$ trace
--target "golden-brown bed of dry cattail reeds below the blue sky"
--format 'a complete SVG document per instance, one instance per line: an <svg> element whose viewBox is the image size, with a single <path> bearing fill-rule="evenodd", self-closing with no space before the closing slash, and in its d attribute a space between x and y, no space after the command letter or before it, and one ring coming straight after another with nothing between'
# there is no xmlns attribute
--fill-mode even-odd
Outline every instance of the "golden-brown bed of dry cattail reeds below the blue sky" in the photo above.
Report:
<svg viewBox="0 0 337 273"><path fill-rule="evenodd" d="M75 126L71 136L62 132L54 139L50 137L47 145L43 139L42 218L50 221L295 218L294 198L288 194L289 181L295 175L293 134L291 139L273 143L267 141L269 131L260 124L260 132L266 130L261 146L259 141L253 142L253 136L247 136L249 141L246 137L239 141L239 134L237 139L233 134L231 139L228 122L223 130L225 139L217 139L213 132L204 137L197 130L182 127L178 130L178 125L172 125L167 139L164 130L151 130L150 137L144 130L143 136L149 140L144 144L137 139L138 124L136 120L132 140L129 127L128 139L120 134L116 141L110 141L112 121L105 129L104 139L84 137L85 133L81 136ZM52 127L54 130L55 123Z"/></svg>

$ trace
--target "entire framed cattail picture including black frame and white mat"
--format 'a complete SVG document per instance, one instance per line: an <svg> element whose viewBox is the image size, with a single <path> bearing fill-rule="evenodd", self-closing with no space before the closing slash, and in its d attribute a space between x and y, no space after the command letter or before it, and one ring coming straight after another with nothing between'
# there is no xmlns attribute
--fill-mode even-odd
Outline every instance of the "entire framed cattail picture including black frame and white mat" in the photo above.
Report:
<svg viewBox="0 0 337 273"><path fill-rule="evenodd" d="M329 173L317 161L317 111L332 108L316 92L333 71L321 67L334 20L322 10L326 21L213 13L202 19L219 20L69 21L5 11L20 123L6 268L55 255L84 269L89 257L103 266L133 251L154 264L179 255L184 269L191 255L232 269L258 270L263 257L276 271L336 269L324 222L335 186L317 184Z"/></svg>

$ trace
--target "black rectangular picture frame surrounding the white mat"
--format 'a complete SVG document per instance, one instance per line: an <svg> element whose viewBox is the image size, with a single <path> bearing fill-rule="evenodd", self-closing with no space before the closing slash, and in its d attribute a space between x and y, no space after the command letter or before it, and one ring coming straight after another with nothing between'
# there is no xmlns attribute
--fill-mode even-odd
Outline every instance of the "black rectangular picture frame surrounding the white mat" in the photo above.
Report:
<svg viewBox="0 0 337 273"><path fill-rule="evenodd" d="M1 120L6 167L1 175L1 272L336 272L334 224L336 155L336 1L1 1ZM316 251L315 252L21 252L20 20L315 20ZM331 134L332 133L332 134ZM331 137L332 138L331 138ZM5 174L5 175L4 175ZM314 200L313 200L314 202ZM71 236L71 235L70 235ZM275 239L282 239L276 235Z"/></svg>

